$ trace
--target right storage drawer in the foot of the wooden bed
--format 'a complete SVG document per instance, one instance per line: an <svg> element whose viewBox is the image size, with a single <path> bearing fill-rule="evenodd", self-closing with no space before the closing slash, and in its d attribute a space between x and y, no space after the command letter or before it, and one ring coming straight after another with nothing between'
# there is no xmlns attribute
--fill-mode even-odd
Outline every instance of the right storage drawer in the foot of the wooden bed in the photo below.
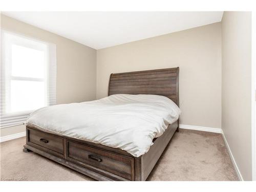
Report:
<svg viewBox="0 0 256 192"><path fill-rule="evenodd" d="M68 159L86 163L125 179L134 180L134 158L67 141Z"/></svg>

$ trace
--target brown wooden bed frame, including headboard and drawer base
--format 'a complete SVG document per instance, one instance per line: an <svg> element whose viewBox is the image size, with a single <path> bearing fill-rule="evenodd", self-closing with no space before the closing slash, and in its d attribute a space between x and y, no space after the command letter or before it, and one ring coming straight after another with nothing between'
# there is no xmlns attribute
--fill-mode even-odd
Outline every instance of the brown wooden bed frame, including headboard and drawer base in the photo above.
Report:
<svg viewBox="0 0 256 192"><path fill-rule="evenodd" d="M179 105L179 68L111 74L108 95L119 93L163 95ZM153 140L154 144L146 154L134 157L119 148L63 136L28 124L23 151L33 151L96 180L145 181L178 129L176 121L162 136Z"/></svg>

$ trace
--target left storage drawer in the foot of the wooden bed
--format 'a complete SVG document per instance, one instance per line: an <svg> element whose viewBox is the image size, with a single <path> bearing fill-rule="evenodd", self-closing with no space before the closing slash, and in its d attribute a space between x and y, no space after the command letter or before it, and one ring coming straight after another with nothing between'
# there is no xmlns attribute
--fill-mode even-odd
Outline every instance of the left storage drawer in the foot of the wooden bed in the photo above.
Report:
<svg viewBox="0 0 256 192"><path fill-rule="evenodd" d="M63 139L55 137L44 132L35 131L32 129L28 130L29 142L36 145L48 148L53 152L57 152L63 155Z"/></svg>

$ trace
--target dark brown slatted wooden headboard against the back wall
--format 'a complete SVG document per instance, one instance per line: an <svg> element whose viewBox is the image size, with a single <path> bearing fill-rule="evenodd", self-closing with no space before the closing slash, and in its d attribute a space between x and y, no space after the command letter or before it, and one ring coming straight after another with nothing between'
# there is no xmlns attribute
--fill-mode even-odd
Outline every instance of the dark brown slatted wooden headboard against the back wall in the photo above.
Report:
<svg viewBox="0 0 256 192"><path fill-rule="evenodd" d="M179 106L179 67L112 73L108 96L121 93L162 95Z"/></svg>

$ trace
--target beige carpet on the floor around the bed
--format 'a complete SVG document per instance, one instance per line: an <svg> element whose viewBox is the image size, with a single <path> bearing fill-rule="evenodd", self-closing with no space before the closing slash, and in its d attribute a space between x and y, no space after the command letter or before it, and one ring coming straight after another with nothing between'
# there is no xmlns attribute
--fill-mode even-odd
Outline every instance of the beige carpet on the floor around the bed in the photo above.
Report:
<svg viewBox="0 0 256 192"><path fill-rule="evenodd" d="M93 180L33 152L25 138L1 143L1 180ZM151 175L151 181L237 181L221 134L180 130L175 133Z"/></svg>

